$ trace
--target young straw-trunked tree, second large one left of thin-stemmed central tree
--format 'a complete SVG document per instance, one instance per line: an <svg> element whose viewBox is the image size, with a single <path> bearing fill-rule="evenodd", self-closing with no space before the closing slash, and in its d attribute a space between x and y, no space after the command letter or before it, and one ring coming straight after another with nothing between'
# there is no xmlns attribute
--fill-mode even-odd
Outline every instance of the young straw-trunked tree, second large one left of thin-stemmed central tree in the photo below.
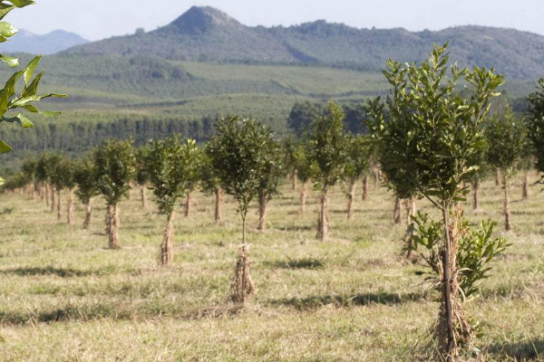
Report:
<svg viewBox="0 0 544 362"><path fill-rule="evenodd" d="M132 141L109 140L92 154L96 188L104 196L108 211L106 233L110 249L120 249L119 202L126 197L135 172Z"/></svg>

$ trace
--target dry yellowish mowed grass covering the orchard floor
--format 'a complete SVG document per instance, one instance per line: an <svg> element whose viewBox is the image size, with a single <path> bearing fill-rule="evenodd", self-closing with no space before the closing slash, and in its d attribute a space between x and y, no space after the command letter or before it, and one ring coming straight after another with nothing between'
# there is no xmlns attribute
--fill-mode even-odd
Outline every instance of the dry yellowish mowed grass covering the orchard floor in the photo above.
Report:
<svg viewBox="0 0 544 362"><path fill-rule="evenodd" d="M531 175L535 181L536 175ZM465 307L480 321L479 361L544 359L544 195L511 190L513 245L494 264L481 296ZM393 195L371 187L345 220L345 187L331 200L333 232L315 240L317 193L306 214L286 183L269 205L268 230L250 212L257 295L240 310L228 300L240 240L236 204L213 223L213 198L197 194L194 214L176 217L175 262L157 266L165 217L136 190L121 204L120 251L103 231L96 200L92 230L72 227L39 200L0 195L0 360L2 361L425 361L437 295L402 258L405 225L393 224ZM65 201L65 200L64 200ZM502 193L481 192L476 223L499 221ZM428 203L420 207L432 212ZM477 359L476 359L477 358Z"/></svg>

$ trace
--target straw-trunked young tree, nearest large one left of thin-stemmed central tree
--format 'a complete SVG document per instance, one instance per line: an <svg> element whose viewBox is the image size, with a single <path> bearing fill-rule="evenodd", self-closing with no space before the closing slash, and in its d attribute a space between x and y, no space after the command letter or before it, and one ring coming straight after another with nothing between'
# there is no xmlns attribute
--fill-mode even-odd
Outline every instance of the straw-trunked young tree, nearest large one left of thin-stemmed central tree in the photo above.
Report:
<svg viewBox="0 0 544 362"><path fill-rule="evenodd" d="M190 191L199 175L201 151L193 139L181 142L178 136L154 140L146 157L153 195L159 213L168 221L160 245L160 264L171 266L174 260L174 206Z"/></svg>

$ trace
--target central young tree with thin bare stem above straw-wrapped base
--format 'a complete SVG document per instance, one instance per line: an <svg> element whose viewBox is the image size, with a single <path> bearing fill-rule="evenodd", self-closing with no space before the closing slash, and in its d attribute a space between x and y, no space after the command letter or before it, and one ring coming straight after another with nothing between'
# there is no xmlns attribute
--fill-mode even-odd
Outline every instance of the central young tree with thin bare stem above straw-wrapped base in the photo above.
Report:
<svg viewBox="0 0 544 362"><path fill-rule="evenodd" d="M251 201L258 196L261 178L267 172L267 145L272 131L255 119L228 117L219 120L218 135L208 145L208 155L218 171L221 185L238 202L242 218L242 247L233 281L232 300L245 303L254 293L249 276L246 219Z"/></svg>

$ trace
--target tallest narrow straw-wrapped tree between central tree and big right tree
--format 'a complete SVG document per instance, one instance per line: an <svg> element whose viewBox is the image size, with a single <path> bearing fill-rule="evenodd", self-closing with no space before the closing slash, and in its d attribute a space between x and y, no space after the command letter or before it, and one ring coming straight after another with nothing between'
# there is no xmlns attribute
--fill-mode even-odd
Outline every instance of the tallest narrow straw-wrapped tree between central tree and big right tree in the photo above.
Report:
<svg viewBox="0 0 544 362"><path fill-rule="evenodd" d="M326 116L318 117L310 128L308 158L316 165L314 182L321 189L317 219L317 238L326 239L329 233L328 193L342 177L347 160L347 137L344 131L345 114L342 107L329 103Z"/></svg>

